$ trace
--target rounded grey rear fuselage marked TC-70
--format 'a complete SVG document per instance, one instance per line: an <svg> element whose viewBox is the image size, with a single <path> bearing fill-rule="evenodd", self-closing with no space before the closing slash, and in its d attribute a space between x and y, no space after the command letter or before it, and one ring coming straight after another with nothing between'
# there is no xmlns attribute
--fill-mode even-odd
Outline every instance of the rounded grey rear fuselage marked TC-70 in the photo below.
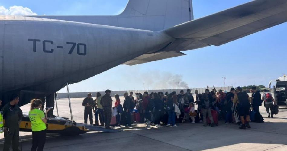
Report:
<svg viewBox="0 0 287 151"><path fill-rule="evenodd" d="M5 16L0 16L3 18ZM0 19L0 91L53 93L85 80L172 38L139 29L32 17ZM4 72L5 71L5 72Z"/></svg>

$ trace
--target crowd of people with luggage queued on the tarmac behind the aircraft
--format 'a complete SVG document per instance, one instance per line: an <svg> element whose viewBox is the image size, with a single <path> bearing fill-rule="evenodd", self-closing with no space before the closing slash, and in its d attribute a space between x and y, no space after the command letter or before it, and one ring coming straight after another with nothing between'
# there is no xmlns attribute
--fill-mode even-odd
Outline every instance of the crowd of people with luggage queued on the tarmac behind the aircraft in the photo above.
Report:
<svg viewBox="0 0 287 151"><path fill-rule="evenodd" d="M231 88L229 92L224 93L223 90L217 91L215 88L210 91L208 86L202 94L198 93L198 90L192 94L191 90L187 89L186 93L181 90L179 94L136 93L134 98L133 92L126 92L123 104L119 95L115 95L114 106L110 96L111 90L106 90L103 97L98 92L95 100L89 93L82 104L85 106L84 123L87 123L89 115L90 124L93 124L94 112L93 125L105 126L107 129L110 129L110 125L131 127L132 123L146 123L146 128L163 125L176 127L176 123L183 122L202 122L203 126L214 127L218 125L218 120L225 120L225 124L237 123L241 125L240 129L247 129L251 128L250 115L251 121L263 122L259 112L259 106L263 102L268 117L273 117L273 105L276 105L273 96L267 90L264 90L262 97L256 87L252 87L250 92L251 97L241 87Z"/></svg>

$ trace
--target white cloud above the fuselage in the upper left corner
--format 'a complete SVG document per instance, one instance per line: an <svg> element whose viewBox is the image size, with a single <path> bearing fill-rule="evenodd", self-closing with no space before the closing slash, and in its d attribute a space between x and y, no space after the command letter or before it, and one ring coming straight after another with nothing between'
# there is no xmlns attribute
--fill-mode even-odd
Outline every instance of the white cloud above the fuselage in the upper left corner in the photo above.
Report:
<svg viewBox="0 0 287 151"><path fill-rule="evenodd" d="M10 6L6 9L4 6L0 6L1 15L37 15L30 8L23 6Z"/></svg>

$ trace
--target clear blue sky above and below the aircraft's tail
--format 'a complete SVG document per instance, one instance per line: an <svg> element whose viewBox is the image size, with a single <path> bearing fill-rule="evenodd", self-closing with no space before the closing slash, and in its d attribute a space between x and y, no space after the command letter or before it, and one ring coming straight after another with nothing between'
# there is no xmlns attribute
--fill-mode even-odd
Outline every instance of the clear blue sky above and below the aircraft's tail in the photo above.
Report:
<svg viewBox="0 0 287 151"><path fill-rule="evenodd" d="M12 0L1 1L0 7L23 6L38 15L116 15L128 0ZM201 18L250 0L194 0L194 17ZM1 9L0 9L1 12ZM7 11L6 11L7 12ZM70 86L71 92L111 90L142 90L145 88L176 88L159 86L165 75L179 74L189 87L206 85L267 86L270 80L287 73L287 23L277 25L222 46L184 51L186 56L135 66L120 65L85 81ZM125 71L130 71L127 75ZM66 92L66 89L60 92Z"/></svg>

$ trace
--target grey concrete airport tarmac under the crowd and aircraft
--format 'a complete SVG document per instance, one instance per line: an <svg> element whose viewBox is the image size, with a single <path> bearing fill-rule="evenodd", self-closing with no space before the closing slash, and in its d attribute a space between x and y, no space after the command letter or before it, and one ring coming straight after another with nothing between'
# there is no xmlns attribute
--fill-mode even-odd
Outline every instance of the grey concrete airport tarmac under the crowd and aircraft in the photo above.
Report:
<svg viewBox="0 0 287 151"><path fill-rule="evenodd" d="M113 98L114 99L114 98ZM83 121L83 98L72 98L73 119ZM121 102L123 103L123 97ZM113 102L114 104L114 102ZM58 100L59 116L69 117L68 99ZM29 111L29 104L22 106ZM178 123L178 127L152 126L145 129L144 124L132 128L121 127L121 132L88 132L78 136L59 136L47 134L44 150L287 150L287 107L280 107L279 114L267 118L266 110L260 107L265 123L253 123L252 129L240 130L238 125L225 125L219 121L218 127L203 127L202 123ZM54 110L56 115L56 109ZM0 135L0 150L3 148L3 134ZM22 132L23 151L31 150L31 133Z"/></svg>

